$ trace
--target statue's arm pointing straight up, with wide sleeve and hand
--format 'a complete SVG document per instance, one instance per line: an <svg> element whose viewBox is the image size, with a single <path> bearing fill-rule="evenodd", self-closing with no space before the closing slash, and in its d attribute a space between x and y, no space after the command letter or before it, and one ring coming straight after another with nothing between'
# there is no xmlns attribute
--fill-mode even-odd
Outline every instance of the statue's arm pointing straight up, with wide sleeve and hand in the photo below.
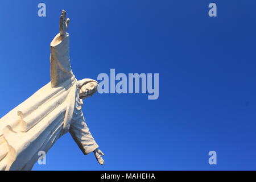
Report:
<svg viewBox="0 0 256 182"><path fill-rule="evenodd" d="M60 15L60 33L51 42L51 86L56 87L73 77L69 58L69 34L67 32L69 18L66 11Z"/></svg>

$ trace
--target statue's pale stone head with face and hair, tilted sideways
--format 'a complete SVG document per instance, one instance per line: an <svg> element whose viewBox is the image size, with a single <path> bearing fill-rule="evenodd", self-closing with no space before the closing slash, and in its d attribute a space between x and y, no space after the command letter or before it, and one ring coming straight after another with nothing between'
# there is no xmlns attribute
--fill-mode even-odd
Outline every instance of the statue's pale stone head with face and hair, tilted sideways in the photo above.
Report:
<svg viewBox="0 0 256 182"><path fill-rule="evenodd" d="M79 96L81 99L92 96L97 92L98 82L89 78L78 81Z"/></svg>

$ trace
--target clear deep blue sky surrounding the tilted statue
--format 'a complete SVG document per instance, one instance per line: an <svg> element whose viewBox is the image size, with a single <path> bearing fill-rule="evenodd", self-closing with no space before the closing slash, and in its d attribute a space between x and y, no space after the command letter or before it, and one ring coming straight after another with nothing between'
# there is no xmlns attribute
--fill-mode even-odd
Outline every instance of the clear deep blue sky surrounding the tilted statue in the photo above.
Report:
<svg viewBox="0 0 256 182"><path fill-rule="evenodd" d="M38 16L38 3L47 16ZM217 17L208 5L217 4ZM159 99L94 94L83 108L105 153L67 134L36 170L256 169L255 0L0 2L0 117L49 82L49 43L67 10L78 79L159 73ZM217 165L208 152L217 152Z"/></svg>

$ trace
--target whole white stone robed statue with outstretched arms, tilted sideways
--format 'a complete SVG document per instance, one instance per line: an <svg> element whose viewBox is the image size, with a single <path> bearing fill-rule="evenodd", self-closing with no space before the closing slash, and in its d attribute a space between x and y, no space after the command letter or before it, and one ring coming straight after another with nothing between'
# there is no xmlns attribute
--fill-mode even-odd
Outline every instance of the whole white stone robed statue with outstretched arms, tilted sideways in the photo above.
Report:
<svg viewBox="0 0 256 182"><path fill-rule="evenodd" d="M47 152L68 132L85 155L93 151L98 163L104 164L104 154L82 114L82 100L97 91L98 82L77 81L73 75L68 23L63 10L60 33L51 42L51 82L0 119L0 170L31 170L38 152Z"/></svg>

